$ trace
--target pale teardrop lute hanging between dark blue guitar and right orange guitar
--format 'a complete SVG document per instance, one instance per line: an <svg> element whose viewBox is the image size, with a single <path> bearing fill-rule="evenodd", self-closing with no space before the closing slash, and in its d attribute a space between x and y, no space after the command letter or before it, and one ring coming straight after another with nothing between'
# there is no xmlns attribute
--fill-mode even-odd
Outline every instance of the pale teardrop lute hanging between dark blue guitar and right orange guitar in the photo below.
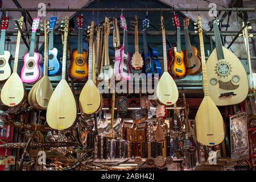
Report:
<svg viewBox="0 0 256 182"><path fill-rule="evenodd" d="M170 106L177 101L179 97L179 91L174 79L171 77L167 70L166 31L164 27L163 16L161 16L161 27L163 35L164 72L160 77L158 85L156 86L156 99L160 102L160 104Z"/></svg>

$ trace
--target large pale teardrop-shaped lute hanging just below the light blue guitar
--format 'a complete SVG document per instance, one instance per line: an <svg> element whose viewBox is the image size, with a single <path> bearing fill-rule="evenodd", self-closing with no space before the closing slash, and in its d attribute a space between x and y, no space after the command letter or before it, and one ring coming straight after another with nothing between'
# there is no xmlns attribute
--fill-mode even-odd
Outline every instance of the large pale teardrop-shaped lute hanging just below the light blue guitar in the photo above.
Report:
<svg viewBox="0 0 256 182"><path fill-rule="evenodd" d="M61 27L64 27L64 45L62 61L62 77L56 86L49 100L46 119L48 125L55 130L68 129L76 121L77 107L76 99L72 90L65 80L66 63L67 63L67 36L68 36L69 19L66 16Z"/></svg>

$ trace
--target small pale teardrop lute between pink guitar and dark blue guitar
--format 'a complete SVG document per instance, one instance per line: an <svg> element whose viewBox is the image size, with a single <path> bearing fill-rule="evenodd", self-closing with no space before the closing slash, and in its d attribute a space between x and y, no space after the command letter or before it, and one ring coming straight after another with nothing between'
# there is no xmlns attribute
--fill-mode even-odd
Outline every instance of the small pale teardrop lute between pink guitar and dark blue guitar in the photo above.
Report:
<svg viewBox="0 0 256 182"><path fill-rule="evenodd" d="M131 72L141 73L143 67L143 59L139 53L139 32L138 32L138 18L135 15L134 22L132 22L134 27L134 43L135 43L135 53L131 58Z"/></svg>

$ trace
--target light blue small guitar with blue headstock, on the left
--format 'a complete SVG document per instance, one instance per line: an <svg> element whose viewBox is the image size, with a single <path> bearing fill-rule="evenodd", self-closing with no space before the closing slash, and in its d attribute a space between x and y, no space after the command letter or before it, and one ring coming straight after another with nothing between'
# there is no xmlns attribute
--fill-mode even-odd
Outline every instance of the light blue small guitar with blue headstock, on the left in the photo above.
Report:
<svg viewBox="0 0 256 182"><path fill-rule="evenodd" d="M49 18L49 53L48 53L48 75L58 75L61 71L60 52L53 47L53 30L57 22L57 16ZM44 70L44 66L43 66Z"/></svg>

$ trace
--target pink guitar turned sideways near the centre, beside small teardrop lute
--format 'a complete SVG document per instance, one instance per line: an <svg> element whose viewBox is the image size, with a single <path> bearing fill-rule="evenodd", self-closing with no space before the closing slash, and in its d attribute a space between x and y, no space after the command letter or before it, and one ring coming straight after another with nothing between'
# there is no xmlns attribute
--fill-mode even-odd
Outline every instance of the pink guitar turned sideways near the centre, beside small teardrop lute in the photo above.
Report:
<svg viewBox="0 0 256 182"><path fill-rule="evenodd" d="M131 58L128 52L127 26L126 26L125 17L123 15L120 16L120 19L121 19L121 27L123 28L123 45L121 48L115 50L114 75L116 77L120 75L124 80L130 80Z"/></svg>

